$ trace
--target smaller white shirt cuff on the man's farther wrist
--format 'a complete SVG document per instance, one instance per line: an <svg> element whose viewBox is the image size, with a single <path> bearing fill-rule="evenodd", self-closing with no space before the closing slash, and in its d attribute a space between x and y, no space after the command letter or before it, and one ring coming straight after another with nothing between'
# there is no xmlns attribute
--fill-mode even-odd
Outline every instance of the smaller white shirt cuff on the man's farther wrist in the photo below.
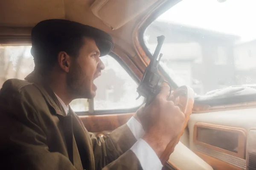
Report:
<svg viewBox="0 0 256 170"><path fill-rule="evenodd" d="M132 116L126 124L137 140L145 134L142 125L137 121L137 119L134 118L134 116Z"/></svg>

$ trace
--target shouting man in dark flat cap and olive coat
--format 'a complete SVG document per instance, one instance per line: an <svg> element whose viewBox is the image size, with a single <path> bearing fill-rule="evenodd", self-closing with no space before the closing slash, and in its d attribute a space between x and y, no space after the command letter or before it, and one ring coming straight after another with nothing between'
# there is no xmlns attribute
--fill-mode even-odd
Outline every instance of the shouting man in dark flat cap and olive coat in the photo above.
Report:
<svg viewBox="0 0 256 170"><path fill-rule="evenodd" d="M184 122L166 99L169 87L127 124L96 138L69 103L96 95L93 80L104 69L100 57L113 48L110 35L68 20L45 20L31 38L34 71L26 80L7 80L0 90L0 167L160 170L159 158Z"/></svg>

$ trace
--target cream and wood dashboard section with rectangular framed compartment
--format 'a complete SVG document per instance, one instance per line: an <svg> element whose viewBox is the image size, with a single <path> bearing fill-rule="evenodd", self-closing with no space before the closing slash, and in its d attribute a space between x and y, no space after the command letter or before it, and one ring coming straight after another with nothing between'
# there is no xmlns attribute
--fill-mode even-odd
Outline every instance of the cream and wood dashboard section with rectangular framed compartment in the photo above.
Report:
<svg viewBox="0 0 256 170"><path fill-rule="evenodd" d="M248 108L193 113L188 122L190 149L216 170L245 169L247 132L256 127L255 111ZM198 127L208 129L201 132L201 139Z"/></svg>

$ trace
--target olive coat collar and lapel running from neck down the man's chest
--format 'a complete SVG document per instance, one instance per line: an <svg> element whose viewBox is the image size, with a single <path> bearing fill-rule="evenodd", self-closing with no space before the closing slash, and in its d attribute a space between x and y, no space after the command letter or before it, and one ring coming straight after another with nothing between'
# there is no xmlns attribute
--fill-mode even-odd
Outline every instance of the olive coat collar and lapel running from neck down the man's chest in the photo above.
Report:
<svg viewBox="0 0 256 170"><path fill-rule="evenodd" d="M58 116L63 127L64 138L67 144L68 157L76 169L95 170L93 144L90 140L90 134L84 127L81 119L73 112L69 106L69 115L64 116L64 108L58 101L49 85L42 81L40 74L33 71L25 80L33 83L43 94L45 100L53 108L52 114ZM82 167L81 167L82 165Z"/></svg>

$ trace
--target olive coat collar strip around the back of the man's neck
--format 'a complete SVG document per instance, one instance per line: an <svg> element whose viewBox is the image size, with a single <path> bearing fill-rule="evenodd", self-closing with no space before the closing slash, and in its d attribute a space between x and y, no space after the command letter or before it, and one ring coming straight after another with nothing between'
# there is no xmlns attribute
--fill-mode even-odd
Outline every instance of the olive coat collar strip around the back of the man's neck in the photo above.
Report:
<svg viewBox="0 0 256 170"><path fill-rule="evenodd" d="M64 108L61 103L58 101L56 95L52 91L52 89L43 81L43 77L41 74L37 73L35 70L32 71L29 75L25 77L25 80L33 83L43 94L46 101L49 105L55 110L55 114L64 116L65 113Z"/></svg>

